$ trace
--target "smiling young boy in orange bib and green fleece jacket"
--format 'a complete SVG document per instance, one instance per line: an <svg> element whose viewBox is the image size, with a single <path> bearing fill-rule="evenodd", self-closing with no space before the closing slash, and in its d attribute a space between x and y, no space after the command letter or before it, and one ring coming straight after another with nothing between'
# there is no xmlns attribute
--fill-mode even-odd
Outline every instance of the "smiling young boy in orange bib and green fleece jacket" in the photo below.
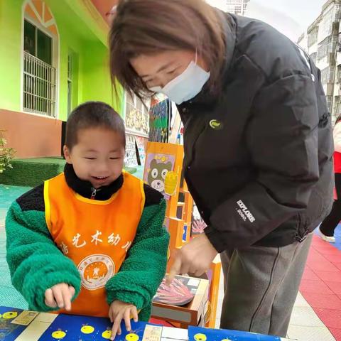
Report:
<svg viewBox="0 0 341 341"><path fill-rule="evenodd" d="M6 218L12 283L30 309L109 316L113 338L137 310L148 320L168 249L166 203L122 171L125 143L112 107L80 105L67 121L64 173L19 197Z"/></svg>

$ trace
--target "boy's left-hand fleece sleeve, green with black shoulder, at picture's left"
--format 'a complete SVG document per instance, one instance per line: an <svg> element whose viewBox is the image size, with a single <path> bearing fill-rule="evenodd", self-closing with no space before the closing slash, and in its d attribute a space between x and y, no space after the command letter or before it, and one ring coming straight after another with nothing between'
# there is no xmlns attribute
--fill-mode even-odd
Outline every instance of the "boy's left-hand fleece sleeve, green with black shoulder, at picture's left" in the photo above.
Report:
<svg viewBox="0 0 341 341"><path fill-rule="evenodd" d="M80 291L75 264L58 249L45 222L43 185L19 197L6 217L7 262L13 286L30 309L53 310L45 305L45 291L68 283Z"/></svg>

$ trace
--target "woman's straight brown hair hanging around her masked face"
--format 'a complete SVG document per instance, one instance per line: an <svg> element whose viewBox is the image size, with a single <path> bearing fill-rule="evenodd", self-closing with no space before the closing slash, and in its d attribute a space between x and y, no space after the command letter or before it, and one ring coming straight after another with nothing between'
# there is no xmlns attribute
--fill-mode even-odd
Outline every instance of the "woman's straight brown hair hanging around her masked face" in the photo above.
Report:
<svg viewBox="0 0 341 341"><path fill-rule="evenodd" d="M131 67L131 58L166 50L192 50L205 60L210 90L219 87L224 63L222 19L204 0L121 0L109 34L112 83L128 92L150 94Z"/></svg>

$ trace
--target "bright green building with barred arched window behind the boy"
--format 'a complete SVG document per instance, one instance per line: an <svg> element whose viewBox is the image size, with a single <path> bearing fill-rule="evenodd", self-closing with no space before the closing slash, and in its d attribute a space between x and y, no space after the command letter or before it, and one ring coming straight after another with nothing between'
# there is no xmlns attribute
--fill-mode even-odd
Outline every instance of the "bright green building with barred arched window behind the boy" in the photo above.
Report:
<svg viewBox="0 0 341 341"><path fill-rule="evenodd" d="M59 156L63 122L100 100L122 112L109 76L105 3L0 1L0 130L18 158Z"/></svg>

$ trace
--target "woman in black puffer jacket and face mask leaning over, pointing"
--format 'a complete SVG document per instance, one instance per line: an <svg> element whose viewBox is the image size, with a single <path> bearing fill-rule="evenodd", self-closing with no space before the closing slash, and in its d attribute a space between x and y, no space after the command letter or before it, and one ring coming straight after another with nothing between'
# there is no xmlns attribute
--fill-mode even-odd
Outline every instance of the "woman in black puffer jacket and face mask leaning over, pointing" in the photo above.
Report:
<svg viewBox="0 0 341 341"><path fill-rule="evenodd" d="M112 79L163 92L185 125L184 173L208 227L175 273L221 253L221 328L285 336L311 233L332 197L332 142L320 73L259 21L203 0L125 0L110 33Z"/></svg>

